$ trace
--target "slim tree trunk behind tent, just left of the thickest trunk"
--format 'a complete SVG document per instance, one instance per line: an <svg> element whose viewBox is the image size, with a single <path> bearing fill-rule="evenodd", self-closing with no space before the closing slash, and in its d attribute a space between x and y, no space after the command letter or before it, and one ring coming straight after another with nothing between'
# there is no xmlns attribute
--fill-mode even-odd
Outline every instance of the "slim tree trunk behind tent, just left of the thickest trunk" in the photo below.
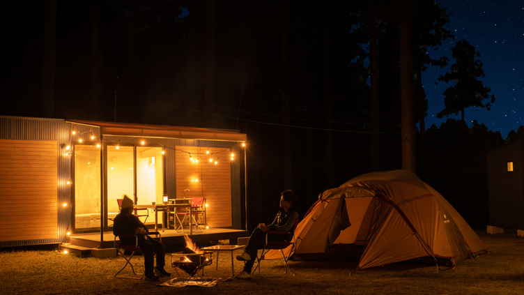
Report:
<svg viewBox="0 0 524 295"><path fill-rule="evenodd" d="M380 118L375 0L369 0L369 67L371 68L371 171L380 171Z"/></svg>

